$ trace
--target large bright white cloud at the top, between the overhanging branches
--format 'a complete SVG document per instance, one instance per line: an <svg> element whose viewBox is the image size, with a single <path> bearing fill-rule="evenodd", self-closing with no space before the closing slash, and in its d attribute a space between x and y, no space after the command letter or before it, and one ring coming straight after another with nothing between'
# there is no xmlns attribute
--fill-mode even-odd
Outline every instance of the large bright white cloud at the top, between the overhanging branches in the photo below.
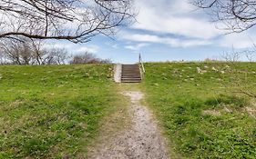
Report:
<svg viewBox="0 0 256 159"><path fill-rule="evenodd" d="M136 4L139 13L138 23L132 25L135 29L200 39L210 39L220 35L220 30L208 20L202 16L195 16L197 13L192 12L194 7L186 1L137 0Z"/></svg>

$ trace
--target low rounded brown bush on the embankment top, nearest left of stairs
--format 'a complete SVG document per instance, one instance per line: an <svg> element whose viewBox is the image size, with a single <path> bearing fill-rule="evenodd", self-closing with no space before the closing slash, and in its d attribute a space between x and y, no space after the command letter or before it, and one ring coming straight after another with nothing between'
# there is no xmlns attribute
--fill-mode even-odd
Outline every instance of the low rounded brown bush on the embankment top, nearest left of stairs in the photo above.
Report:
<svg viewBox="0 0 256 159"><path fill-rule="evenodd" d="M69 62L71 65L77 64L109 64L109 59L100 59L96 55L90 53L84 53L81 55L74 55L72 60Z"/></svg>

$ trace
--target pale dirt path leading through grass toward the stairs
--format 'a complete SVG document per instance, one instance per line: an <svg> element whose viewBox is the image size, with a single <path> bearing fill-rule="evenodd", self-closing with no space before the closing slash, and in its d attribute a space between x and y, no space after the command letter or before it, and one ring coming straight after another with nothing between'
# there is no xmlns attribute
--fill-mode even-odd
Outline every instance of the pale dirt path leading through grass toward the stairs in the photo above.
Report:
<svg viewBox="0 0 256 159"><path fill-rule="evenodd" d="M130 98L131 124L110 141L102 141L88 158L95 159L167 159L166 142L159 133L148 108L140 104L141 92L122 92Z"/></svg>

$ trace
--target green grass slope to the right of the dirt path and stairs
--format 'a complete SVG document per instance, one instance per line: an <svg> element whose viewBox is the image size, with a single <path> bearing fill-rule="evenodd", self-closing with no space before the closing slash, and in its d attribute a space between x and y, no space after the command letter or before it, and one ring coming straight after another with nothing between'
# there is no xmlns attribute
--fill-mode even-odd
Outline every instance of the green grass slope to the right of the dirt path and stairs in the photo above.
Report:
<svg viewBox="0 0 256 159"><path fill-rule="evenodd" d="M197 68L198 67L198 68ZM184 158L256 158L256 64L146 64L142 89ZM253 105L254 104L254 105Z"/></svg>

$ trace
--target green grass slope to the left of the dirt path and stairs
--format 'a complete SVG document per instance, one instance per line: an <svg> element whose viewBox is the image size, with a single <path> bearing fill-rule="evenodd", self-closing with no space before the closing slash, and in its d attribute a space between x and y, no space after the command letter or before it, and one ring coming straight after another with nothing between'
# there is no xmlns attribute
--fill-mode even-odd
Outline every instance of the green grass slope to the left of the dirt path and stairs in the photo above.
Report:
<svg viewBox="0 0 256 159"><path fill-rule="evenodd" d="M99 121L117 105L111 70L111 65L0 66L0 158L80 155L96 137Z"/></svg>

